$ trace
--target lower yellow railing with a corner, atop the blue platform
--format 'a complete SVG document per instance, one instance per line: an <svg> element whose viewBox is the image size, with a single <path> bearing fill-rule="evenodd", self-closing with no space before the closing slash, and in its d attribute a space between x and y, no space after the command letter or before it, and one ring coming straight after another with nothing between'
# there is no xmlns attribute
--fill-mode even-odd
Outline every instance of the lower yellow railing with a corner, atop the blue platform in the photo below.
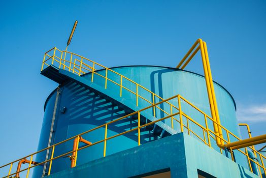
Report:
<svg viewBox="0 0 266 178"><path fill-rule="evenodd" d="M205 126L201 125L200 123L198 123L198 122L196 122L195 120L193 120L190 116L188 116L187 114L185 114L185 113L181 110L181 105L179 105L179 108L178 108L178 109L176 109L175 111L172 111L171 114L168 114L167 116L162 117L162 118L158 118L157 120L155 120L155 121L153 121L153 122L150 122L150 123L147 123L147 124L141 125L141 123L140 123L140 114L141 114L142 111L147 110L147 109L149 109L149 108L153 108L154 106L157 106L157 105L159 106L159 105L162 104L162 103L168 102L168 101L170 101L170 100L175 100L175 99L178 99L178 103L180 103L180 104L181 104L180 100L183 100L185 103L191 105L191 106L192 106L194 109L196 109L198 112L202 113L202 114L204 115ZM129 117L129 116L131 116L131 115L135 115L135 114L138 114L138 127L131 128L130 130L127 130L127 131L124 131L124 132L122 132L122 133L118 133L118 134L116 134L116 135L113 135L113 136L107 137L107 128L108 128L108 125L113 124L113 123L116 123L117 121L120 121L120 120L122 120L122 119L124 119L124 118L127 118L127 117ZM176 115L182 115L182 117L180 117L180 120L177 120L177 118L174 117L174 116L176 116ZM30 165L29 167L27 167L27 168L25 168L25 169L23 169L23 170L20 170L19 172L22 172L22 171L25 171L25 170L29 171L29 169L31 169L31 168L33 168L33 167L35 167L35 166L42 165L42 164L44 164L44 163L46 163L46 162L50 162L50 165L49 165L49 171L48 171L48 175L49 175L50 172L51 172L51 165L52 165L52 161L53 161L53 160L58 159L58 158L61 158L61 157L66 156L66 155L69 155L69 154L71 154L71 153L73 153L73 152L76 152L76 155L77 155L77 154L78 154L78 151L83 150L83 149L86 149L86 148L89 147L89 146L93 146L93 145L98 144L98 143L101 143L101 142L104 142L104 143L105 143L105 144L104 144L104 155L103 155L103 156L105 157L105 156L106 156L106 141L107 141L107 140L112 139L112 138L117 137L117 136L120 136L120 135L123 135L123 134L126 134L126 133L128 133L128 132L136 131L136 130L138 130L138 145L140 145L140 144L141 144L141 143L140 143L140 141L141 141L141 140L140 140L140 129L142 129L142 128L144 128L144 127L147 127L147 126L149 126L149 125L155 124L155 123L157 123L157 122L159 122L159 121L163 121L163 120L168 119L168 118L171 119L172 117L174 118L174 121L177 121L178 123L180 123L180 130L186 129L189 135L190 135L190 133L193 134L193 135L195 135L196 138L198 138L199 140L203 141L206 145L208 145L208 146L210 146L210 147L212 147L212 145L211 145L211 141L210 141L211 138L214 139L214 140L216 140L216 137L219 137L219 138L222 139L225 143L229 143L229 140L230 140L229 137L231 137L231 136L232 136L234 139L241 140L241 139L238 138L235 134L231 133L231 132L230 132L229 130L227 130L225 127L223 127L222 125L220 125L217 121L214 121L213 118L211 118L209 115L207 115L206 113L204 113L202 110L198 109L196 106L194 106L192 103L190 103L189 101L187 101L185 98L183 98L183 97L180 96L180 95L176 95L176 96L173 96L173 97L171 97L171 98L169 98L169 99L167 99L167 100L163 100L163 101L160 101L160 102L158 102L158 103L152 104L152 105L150 105L150 106L148 106L148 107L145 107L145 108L140 109L140 110L138 110L138 111L135 111L135 112L132 112L132 113L127 114L127 115L125 115L125 116L122 116L122 117L120 117L120 118L117 118L117 119L114 120L114 121L111 121L111 122L109 122L109 123L103 124L103 125L98 126L98 127L95 127L95 128L93 128L93 129L91 129L91 130L88 130L88 131L86 131L86 132L83 132L83 133L81 133L81 134L79 134L79 135L76 135L76 136L74 136L74 137L71 137L71 138L69 138L69 139L63 140L63 141L61 141L61 142L59 142L59 143L56 143L56 144L54 144L54 145L51 145L51 146L47 147L46 149L43 149L43 150L41 150L41 151L38 151L38 152L36 152L36 153L34 153L34 154L30 154L30 155L28 155L28 156L26 156L26 157L23 157L22 159L25 159L25 158L27 158L27 157L32 157L32 156L34 156L34 155L36 155L36 154L38 154L38 153L40 153L40 152L43 152L43 151L45 151L45 150L47 150L47 149L51 149L51 148L52 148L52 154L51 154L50 159L48 159L48 160L46 160L46 161L43 161L43 162L41 162L41 163L39 163L39 164L36 164L36 165ZM186 123L183 123L183 117L186 118ZM210 120L211 122L215 122L215 123L221 128L221 129L223 129L223 130L226 132L226 135L227 135L227 137L228 137L227 140L224 139L223 137L220 137L219 134L217 134L216 132L214 132L213 130L211 130L211 129L208 127L208 120ZM190 124L189 124L189 122L190 122ZM181 123L183 123L183 124L181 124ZM201 135L199 135L199 134L196 133L196 130L191 129L191 124L194 124L194 125L197 126L198 128L202 129L204 135L201 136ZM78 148L78 147L77 147L77 149L74 150L74 151L67 152L67 153L64 153L64 154L62 154L62 155L59 155L59 156L53 157L53 153L54 153L55 147L56 147L57 145L62 144L62 143L65 143L65 142L70 141L70 140L73 140L73 139L75 139L75 138L77 138L77 137L80 137L81 135L84 135L84 134L86 134L86 133L92 132L92 131L94 131L94 130L96 130L96 129L103 128L103 127L105 127L105 138L104 138L103 140L96 141L96 142L92 143L91 145L86 145L86 146L83 146L83 147L81 147L81 148ZM184 132L184 130L183 130L183 132ZM206 139L205 133L207 133L207 139ZM254 138L255 138L255 137L254 137ZM207 141L207 140L208 140L208 141ZM256 161L252 160L252 158L249 158L249 156L248 156L248 152L247 152L247 147L245 147L245 152L243 152L243 151L240 150L240 149L237 149L236 151L242 153L243 155L245 155L245 156L247 157L248 162L249 162L249 167L250 167L250 170L251 170L251 171L253 171L253 170L252 170L252 167L251 167L250 162L253 162L253 163L255 163L259 168L263 169L264 173L266 173L266 169L265 169L265 167L264 167L264 163L265 163L265 161L266 161L266 157L263 156L263 155L261 155L261 154L260 154L259 152L257 152L256 150L254 150L253 147L250 147L250 146L249 146L249 149L251 149L254 153L256 153L256 154L258 155L258 158L259 158L259 161L260 161L260 162L256 162ZM220 150L220 151L221 151L221 150ZM222 153L222 152L221 152L221 153ZM234 161L234 156L233 156L233 154L232 154L232 150L230 150L230 153L231 153L231 159ZM12 166L14 165L15 162L20 161L20 160L22 160L22 159L18 159L18 160L16 160L16 161L13 161L13 162L11 162L11 163L8 163L8 164L6 164L6 165L4 165L4 166L1 166L0 168L3 168L3 167L6 167L6 166L10 165L10 169L9 169L9 173L8 173L8 174L9 174L9 175L14 175L14 174L16 174L16 173L18 173L18 172L11 173ZM77 159L75 160L75 162L76 162L76 161L77 161ZM8 176L9 176L9 175L8 175ZM4 177L7 177L7 176L4 176Z"/></svg>

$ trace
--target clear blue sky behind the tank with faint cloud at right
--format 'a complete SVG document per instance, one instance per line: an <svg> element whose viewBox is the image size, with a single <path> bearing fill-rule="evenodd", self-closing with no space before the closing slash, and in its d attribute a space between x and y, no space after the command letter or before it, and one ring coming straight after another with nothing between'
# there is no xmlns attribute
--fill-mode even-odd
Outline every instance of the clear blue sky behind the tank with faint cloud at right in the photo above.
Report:
<svg viewBox="0 0 266 178"><path fill-rule="evenodd" d="M1 1L1 165L37 150L44 102L57 83L40 75L44 52L64 49L107 67L175 67L197 38L213 79L235 98L253 136L266 124L265 1ZM203 73L200 58L188 70Z"/></svg>

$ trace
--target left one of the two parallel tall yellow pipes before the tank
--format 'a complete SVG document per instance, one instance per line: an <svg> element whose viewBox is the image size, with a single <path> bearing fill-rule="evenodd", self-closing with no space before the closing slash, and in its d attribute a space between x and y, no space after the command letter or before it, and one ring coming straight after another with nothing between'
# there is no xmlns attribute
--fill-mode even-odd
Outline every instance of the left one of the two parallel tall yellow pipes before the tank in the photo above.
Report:
<svg viewBox="0 0 266 178"><path fill-rule="evenodd" d="M215 109L213 106L213 98L212 98L212 92L211 92L211 87L210 87L210 82L209 82L208 69L207 69L207 65L206 65L203 41L202 41L202 39L198 39L198 41L200 42L200 47L201 47L203 70L204 70L204 75L205 75L205 81L206 81L206 86L207 86L207 93L208 93L208 98L209 98L209 103L210 103L210 108L211 108L211 114L212 114L213 120L216 121L216 115L215 115ZM220 138L217 136L217 135L219 135L218 126L215 122L213 122L213 127L214 127L214 131L215 131L215 137L216 137L217 145L220 145L221 144Z"/></svg>

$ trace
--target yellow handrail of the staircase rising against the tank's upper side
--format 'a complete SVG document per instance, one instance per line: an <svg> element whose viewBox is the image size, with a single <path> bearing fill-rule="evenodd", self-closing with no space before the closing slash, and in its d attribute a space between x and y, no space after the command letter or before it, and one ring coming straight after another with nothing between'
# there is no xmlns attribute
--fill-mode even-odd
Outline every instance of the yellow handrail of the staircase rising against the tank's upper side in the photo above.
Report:
<svg viewBox="0 0 266 178"><path fill-rule="evenodd" d="M51 52L52 54L50 55L49 52ZM67 60L67 54L71 55L70 60ZM62 58L62 56L64 56L64 57ZM74 62L73 62L73 57L75 58ZM80 58L81 60L79 60L78 58ZM51 60L52 60L52 62L48 63ZM111 81L112 83L114 83L114 84L116 84L116 85L118 85L120 87L120 90L119 90L120 97L122 97L122 89L123 88L126 91L134 94L136 96L136 106L139 105L139 100L140 99L143 99L148 104L154 104L155 99L158 99L159 101L163 100L163 98L161 98L160 96L158 96L155 93L151 92L146 87L138 84L137 82L135 82L135 81L133 81L133 80L131 80L131 79L119 74L116 71L113 71L112 69L109 69L109 68L107 68L107 67L105 67L105 66L103 66L101 64L98 64L98 63L96 63L96 62L94 62L92 60L89 60L86 57L83 57L83 56L81 56L79 54L76 54L76 53L73 53L73 52L70 52L70 51L61 51L61 50L57 49L56 47L48 50L45 53L45 55L44 55L44 60L43 60L41 71L43 71L45 69L45 66L50 66L52 64L54 66L57 65L56 67L58 67L59 69L67 68L70 72L72 72L74 74L77 74L79 76L83 75L83 74L86 74L88 72L91 72L91 82L93 82L93 79L94 79L95 75L97 75L99 77L102 77L102 78L105 79L105 84L104 84L105 88L107 88L107 81ZM66 65L66 64L68 64L68 65ZM97 72L97 70L99 70L99 69L96 69L96 67L101 67L101 69L104 69L105 70L105 75L102 75L99 72ZM109 73L113 73L113 74L118 75L119 78L120 78L120 83L118 83L118 82L112 80L111 78L109 78L109 76L108 76ZM127 88L125 85L123 85L122 81L123 81L123 83L125 83L126 81L129 81L130 83L135 84L136 85L136 92L130 90L130 88ZM141 95L141 90L144 90L144 91L150 93L151 96L152 96L152 99L147 99L146 96L148 96L148 95L142 96ZM170 103L170 102L166 102L166 103L169 104L170 106L172 105L172 103ZM160 107L158 107L158 106L155 106L155 107L160 109L162 112L167 113L165 110L161 109ZM174 107L174 106L172 105L172 107ZM154 117L156 117L156 113L155 112L153 113L153 115L154 115Z"/></svg>

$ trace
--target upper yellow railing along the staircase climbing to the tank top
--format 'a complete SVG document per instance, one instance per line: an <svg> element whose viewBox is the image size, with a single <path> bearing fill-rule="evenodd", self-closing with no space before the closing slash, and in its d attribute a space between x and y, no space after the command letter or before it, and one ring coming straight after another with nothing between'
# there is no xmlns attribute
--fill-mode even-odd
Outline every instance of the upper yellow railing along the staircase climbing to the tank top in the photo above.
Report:
<svg viewBox="0 0 266 178"><path fill-rule="evenodd" d="M79 76L86 74L86 73L91 73L91 82L94 82L95 76L99 76L105 80L105 82L103 83L103 87L105 89L108 87L108 82L111 82L117 85L119 87L119 90L114 91L114 92L119 92L120 97L122 97L124 93L123 90L125 90L125 92L129 92L133 94L136 97L136 101L135 101L136 106L139 106L139 102L141 100L142 100L142 103L146 103L147 105L154 104L156 102L163 100L163 98L161 98L157 94L151 92L146 87L125 77L124 75L121 75L112 69L109 69L101 64L98 64L92 60L89 60L86 57L83 57L81 55L75 54L70 51L61 51L57 49L56 47L47 51L43 58L43 64L42 64L41 71L45 70L45 68L50 65L53 65L54 67L57 67L58 69L67 70ZM127 85L129 86L135 85L134 87L135 90L127 87L126 84L124 83L127 83ZM148 96L147 94L150 97L147 97ZM171 108L175 107L172 103L168 101L165 102L165 104L168 104ZM162 107L159 107L156 105L153 107L153 111L152 111L152 114L154 117L157 117L155 108L159 109L160 112L163 112L165 114L168 113L167 111L162 109ZM173 124L171 127L173 129Z"/></svg>

